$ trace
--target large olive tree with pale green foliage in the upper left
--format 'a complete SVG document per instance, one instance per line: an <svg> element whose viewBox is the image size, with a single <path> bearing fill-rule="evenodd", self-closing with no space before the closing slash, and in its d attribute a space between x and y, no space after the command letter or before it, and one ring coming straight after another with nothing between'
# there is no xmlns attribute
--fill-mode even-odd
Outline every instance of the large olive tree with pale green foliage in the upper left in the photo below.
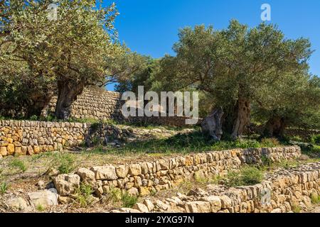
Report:
<svg viewBox="0 0 320 227"><path fill-rule="evenodd" d="M60 0L57 19L50 20L51 3L0 1L0 62L4 72L31 82L28 99L38 105L33 113L39 114L56 90L55 116L65 119L85 86L105 81L110 74L105 64L122 46L115 41L113 22L118 13L114 4L102 8L92 0ZM14 62L26 70L19 72Z"/></svg>

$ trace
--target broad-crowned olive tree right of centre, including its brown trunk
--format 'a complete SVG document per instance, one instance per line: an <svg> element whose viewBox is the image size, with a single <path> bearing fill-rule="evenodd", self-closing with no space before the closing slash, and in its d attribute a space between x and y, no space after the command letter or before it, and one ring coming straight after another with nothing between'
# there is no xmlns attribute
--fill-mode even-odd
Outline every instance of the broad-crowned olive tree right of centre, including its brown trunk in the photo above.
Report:
<svg viewBox="0 0 320 227"><path fill-rule="evenodd" d="M277 26L248 28L230 21L227 29L183 28L166 56L163 70L170 84L196 87L223 107L223 131L238 138L250 122L252 104L263 105L265 91L285 83L289 74L306 71L309 40L287 40ZM272 94L271 94L272 95Z"/></svg>

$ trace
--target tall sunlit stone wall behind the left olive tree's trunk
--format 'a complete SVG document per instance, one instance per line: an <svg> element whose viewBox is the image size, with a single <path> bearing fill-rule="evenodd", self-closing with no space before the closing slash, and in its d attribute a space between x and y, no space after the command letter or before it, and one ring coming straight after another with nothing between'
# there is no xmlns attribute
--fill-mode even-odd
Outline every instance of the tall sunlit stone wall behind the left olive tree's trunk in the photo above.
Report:
<svg viewBox="0 0 320 227"><path fill-rule="evenodd" d="M108 92L99 87L87 87L73 104L71 117L119 120L122 118L120 99L121 94L118 92ZM56 102L57 97L54 96L48 105L48 109L43 111L44 116L48 112L55 111Z"/></svg>

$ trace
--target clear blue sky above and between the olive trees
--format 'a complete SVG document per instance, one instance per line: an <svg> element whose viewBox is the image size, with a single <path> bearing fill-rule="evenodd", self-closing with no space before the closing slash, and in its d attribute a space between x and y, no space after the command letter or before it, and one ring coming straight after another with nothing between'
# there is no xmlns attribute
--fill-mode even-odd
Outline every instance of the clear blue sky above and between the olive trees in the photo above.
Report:
<svg viewBox="0 0 320 227"><path fill-rule="evenodd" d="M226 28L230 19L248 26L261 23L260 6L271 6L271 23L276 23L287 38L309 38L314 54L310 72L320 75L319 0L114 0L120 15L115 27L119 40L133 51L151 57L174 54L178 29L197 24ZM104 1L110 4L111 1ZM111 85L108 89L112 90Z"/></svg>

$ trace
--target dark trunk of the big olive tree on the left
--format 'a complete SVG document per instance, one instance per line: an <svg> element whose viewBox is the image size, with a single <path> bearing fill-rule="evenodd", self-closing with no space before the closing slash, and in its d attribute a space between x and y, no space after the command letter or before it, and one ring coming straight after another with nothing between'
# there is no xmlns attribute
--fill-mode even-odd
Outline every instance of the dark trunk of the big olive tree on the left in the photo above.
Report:
<svg viewBox="0 0 320 227"><path fill-rule="evenodd" d="M55 116L58 119L67 120L71 114L71 106L82 93L85 84L72 80L58 80L58 99L55 106Z"/></svg>

